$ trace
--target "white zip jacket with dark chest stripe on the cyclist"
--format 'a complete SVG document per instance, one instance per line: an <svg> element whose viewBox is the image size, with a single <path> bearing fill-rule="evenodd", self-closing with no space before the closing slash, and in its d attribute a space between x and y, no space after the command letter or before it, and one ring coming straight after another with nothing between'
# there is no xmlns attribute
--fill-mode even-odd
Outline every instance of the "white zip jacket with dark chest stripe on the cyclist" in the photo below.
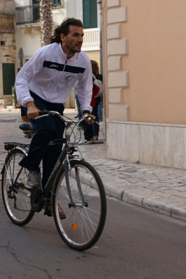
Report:
<svg viewBox="0 0 186 279"><path fill-rule="evenodd" d="M17 73L15 90L17 101L26 106L34 101L29 90L50 103L65 103L73 86L76 87L80 109L92 111L92 66L85 52L77 52L66 59L60 43L39 48Z"/></svg>

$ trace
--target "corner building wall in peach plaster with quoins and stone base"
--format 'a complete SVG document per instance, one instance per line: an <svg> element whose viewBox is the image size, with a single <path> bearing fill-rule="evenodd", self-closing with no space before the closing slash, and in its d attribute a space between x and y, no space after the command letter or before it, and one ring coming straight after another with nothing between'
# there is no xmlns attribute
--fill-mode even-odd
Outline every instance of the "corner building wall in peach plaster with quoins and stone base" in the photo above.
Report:
<svg viewBox="0 0 186 279"><path fill-rule="evenodd" d="M103 0L108 157L185 169L186 1Z"/></svg>

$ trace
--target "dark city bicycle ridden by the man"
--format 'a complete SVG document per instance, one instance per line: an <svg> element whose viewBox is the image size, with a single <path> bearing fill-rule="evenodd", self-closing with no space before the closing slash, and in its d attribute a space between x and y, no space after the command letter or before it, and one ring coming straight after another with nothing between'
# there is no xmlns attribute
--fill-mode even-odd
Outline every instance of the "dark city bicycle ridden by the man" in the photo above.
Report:
<svg viewBox="0 0 186 279"><path fill-rule="evenodd" d="M65 122L64 138L50 143L64 143L64 147L48 183L43 189L39 173L39 187L27 189L27 169L21 167L19 162L27 156L29 144L6 142L4 148L8 155L1 171L3 205L10 220L20 226L28 224L35 213L44 209L46 214L52 207L55 226L64 243L74 250L87 250L99 240L103 231L106 194L99 173L77 154L78 144L70 141L74 128L69 133L69 127L72 124L76 126L88 116L81 120L70 120L56 111L43 111L39 117L48 115L57 115ZM27 131L31 130L30 125L22 123L20 126ZM66 215L64 220L59 218L58 205Z"/></svg>

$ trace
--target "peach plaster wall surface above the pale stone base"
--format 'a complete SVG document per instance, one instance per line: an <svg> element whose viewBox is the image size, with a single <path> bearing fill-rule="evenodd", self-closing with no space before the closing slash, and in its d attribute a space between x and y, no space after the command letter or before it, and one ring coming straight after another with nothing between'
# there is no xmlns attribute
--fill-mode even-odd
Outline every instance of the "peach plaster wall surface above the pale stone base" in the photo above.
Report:
<svg viewBox="0 0 186 279"><path fill-rule="evenodd" d="M186 124L186 1L108 0L106 3L110 105L118 101L129 105L127 120L130 121ZM124 15L124 8L125 22L124 16L120 21L118 15L122 9ZM122 48L123 53L117 48ZM129 75L127 84L124 71ZM119 79L118 86L111 90L118 75L123 80L122 86ZM122 96L112 98L113 94L120 95L120 91Z"/></svg>

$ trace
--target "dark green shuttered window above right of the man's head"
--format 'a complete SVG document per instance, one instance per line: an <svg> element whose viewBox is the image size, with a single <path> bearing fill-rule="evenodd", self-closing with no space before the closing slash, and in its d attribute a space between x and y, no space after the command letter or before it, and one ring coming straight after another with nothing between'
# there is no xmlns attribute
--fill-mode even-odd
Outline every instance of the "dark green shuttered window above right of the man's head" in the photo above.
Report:
<svg viewBox="0 0 186 279"><path fill-rule="evenodd" d="M96 0L83 0L83 25L84 29L97 27Z"/></svg>

